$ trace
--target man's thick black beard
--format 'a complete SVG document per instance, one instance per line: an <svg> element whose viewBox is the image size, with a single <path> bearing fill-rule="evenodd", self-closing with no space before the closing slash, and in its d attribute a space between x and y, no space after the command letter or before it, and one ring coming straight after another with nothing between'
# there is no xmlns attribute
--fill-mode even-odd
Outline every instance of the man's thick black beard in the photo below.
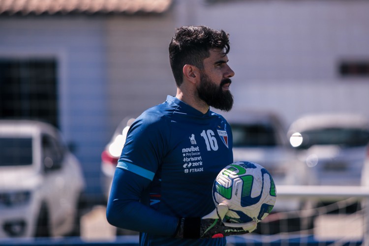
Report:
<svg viewBox="0 0 369 246"><path fill-rule="evenodd" d="M201 73L200 79L201 82L197 88L199 98L213 108L225 112L230 111L233 107L233 95L229 90L223 92L222 87L227 83L231 84L232 81L228 78L223 79L220 86L217 86L204 72Z"/></svg>

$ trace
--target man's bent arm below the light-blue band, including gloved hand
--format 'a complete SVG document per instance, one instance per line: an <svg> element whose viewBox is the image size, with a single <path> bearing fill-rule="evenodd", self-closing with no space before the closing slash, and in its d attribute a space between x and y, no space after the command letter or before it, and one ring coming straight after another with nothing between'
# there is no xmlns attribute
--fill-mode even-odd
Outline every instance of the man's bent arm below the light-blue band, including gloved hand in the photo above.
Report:
<svg viewBox="0 0 369 246"><path fill-rule="evenodd" d="M163 215L139 202L148 184L150 180L117 168L106 210L108 222L128 230L180 238L224 237L245 234L256 228L256 222L225 226L222 220L228 211L226 206L217 207L203 218L182 218L179 224L179 218Z"/></svg>

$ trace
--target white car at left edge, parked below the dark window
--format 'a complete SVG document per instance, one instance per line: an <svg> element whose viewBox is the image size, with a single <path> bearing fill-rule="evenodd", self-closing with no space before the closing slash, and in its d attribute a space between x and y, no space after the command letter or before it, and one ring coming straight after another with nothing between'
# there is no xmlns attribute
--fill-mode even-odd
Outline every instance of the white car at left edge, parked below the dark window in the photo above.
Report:
<svg viewBox="0 0 369 246"><path fill-rule="evenodd" d="M78 236L84 188L55 127L0 121L0 239Z"/></svg>

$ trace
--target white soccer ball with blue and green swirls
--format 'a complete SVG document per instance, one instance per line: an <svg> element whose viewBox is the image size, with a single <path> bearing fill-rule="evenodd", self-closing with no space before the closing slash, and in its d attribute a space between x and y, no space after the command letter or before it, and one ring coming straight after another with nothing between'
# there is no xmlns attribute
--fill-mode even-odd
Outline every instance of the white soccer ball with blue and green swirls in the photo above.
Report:
<svg viewBox="0 0 369 246"><path fill-rule="evenodd" d="M271 213L276 198L272 176L253 162L239 161L226 166L213 185L215 205L224 203L229 208L227 222L259 222Z"/></svg>

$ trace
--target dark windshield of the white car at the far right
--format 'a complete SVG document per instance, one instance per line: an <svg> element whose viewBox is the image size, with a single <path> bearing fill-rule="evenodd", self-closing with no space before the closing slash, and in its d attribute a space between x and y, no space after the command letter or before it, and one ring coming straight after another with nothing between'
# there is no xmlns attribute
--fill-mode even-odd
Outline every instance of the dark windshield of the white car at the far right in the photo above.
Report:
<svg viewBox="0 0 369 246"><path fill-rule="evenodd" d="M303 143L299 148L312 145L342 145L347 147L365 146L369 142L369 130L358 128L323 128L301 133Z"/></svg>

